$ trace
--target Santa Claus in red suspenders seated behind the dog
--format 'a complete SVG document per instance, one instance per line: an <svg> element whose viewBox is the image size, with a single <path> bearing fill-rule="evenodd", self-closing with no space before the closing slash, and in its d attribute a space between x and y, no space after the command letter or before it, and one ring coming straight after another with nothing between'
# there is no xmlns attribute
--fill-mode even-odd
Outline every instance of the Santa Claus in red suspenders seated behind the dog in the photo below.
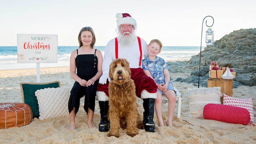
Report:
<svg viewBox="0 0 256 144"><path fill-rule="evenodd" d="M110 123L107 118L108 113L108 82L109 65L117 58L125 58L130 63L132 72L131 78L134 80L136 95L143 99L143 125L147 132L155 132L154 102L157 98L157 85L154 80L146 76L141 68L141 60L148 55L147 43L135 35L137 23L128 13L117 13L117 37L111 39L105 47L102 71L99 78L98 91L96 93L100 108L99 131L107 132Z"/></svg>

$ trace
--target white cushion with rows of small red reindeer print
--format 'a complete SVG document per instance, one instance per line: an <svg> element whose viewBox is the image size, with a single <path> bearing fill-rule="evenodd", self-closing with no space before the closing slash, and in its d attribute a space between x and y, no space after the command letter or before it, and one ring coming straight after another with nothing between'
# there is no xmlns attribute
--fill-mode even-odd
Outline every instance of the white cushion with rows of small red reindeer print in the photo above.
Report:
<svg viewBox="0 0 256 144"><path fill-rule="evenodd" d="M251 121L252 122L254 121L253 105L252 105L251 97L247 98L247 99L239 99L239 98L234 98L234 97L227 96L224 94L223 105L231 105L231 106L246 108L250 113Z"/></svg>

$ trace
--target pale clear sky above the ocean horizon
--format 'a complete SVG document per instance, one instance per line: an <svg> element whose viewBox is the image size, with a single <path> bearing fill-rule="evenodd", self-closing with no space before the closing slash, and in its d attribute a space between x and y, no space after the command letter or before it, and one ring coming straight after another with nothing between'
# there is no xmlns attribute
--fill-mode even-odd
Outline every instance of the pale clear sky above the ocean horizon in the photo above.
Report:
<svg viewBox="0 0 256 144"><path fill-rule="evenodd" d="M214 41L240 29L256 28L255 0L1 0L0 46L17 46L17 34L56 34L58 46L78 46L78 33L90 26L96 46L117 37L116 13L129 13L137 36L163 46L205 46L207 25ZM205 19L204 19L205 18ZM203 21L204 19L204 21Z"/></svg>

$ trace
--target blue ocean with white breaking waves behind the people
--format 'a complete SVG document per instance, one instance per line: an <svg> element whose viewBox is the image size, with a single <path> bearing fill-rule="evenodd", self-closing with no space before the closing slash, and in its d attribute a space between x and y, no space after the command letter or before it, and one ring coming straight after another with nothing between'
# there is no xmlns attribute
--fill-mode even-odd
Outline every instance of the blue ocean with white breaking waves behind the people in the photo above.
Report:
<svg viewBox="0 0 256 144"><path fill-rule="evenodd" d="M58 63L40 63L42 67L68 67L70 54L78 46L58 46ZM105 46L95 46L104 56ZM205 47L202 47L202 50ZM163 46L159 57L165 61L184 61L200 53L200 47ZM18 63L17 46L0 46L0 70L37 68L36 63Z"/></svg>

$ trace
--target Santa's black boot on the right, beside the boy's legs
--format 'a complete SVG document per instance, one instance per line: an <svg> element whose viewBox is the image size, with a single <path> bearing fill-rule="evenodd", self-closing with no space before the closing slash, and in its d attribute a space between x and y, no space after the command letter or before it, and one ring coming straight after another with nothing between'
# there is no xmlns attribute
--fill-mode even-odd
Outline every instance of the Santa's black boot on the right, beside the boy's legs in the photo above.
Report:
<svg viewBox="0 0 256 144"><path fill-rule="evenodd" d="M155 132L154 118L154 104L155 99L147 98L143 99L143 125L146 132Z"/></svg>

